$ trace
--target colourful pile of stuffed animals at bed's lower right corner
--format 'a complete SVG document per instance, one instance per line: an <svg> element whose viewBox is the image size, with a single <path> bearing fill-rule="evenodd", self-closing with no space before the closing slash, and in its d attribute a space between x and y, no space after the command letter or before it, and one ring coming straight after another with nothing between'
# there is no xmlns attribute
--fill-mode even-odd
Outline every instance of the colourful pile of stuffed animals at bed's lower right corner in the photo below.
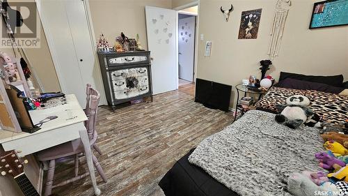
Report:
<svg viewBox="0 0 348 196"><path fill-rule="evenodd" d="M348 135L327 132L321 136L326 151L315 153L315 158L326 172L304 171L292 174L287 180L287 190L295 196L348 195Z"/></svg>

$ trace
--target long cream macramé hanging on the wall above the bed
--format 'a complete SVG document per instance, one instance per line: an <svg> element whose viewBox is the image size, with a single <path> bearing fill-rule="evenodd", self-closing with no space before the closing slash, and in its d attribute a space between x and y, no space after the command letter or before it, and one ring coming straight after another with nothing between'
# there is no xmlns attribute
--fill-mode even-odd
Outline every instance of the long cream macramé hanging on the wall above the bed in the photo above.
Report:
<svg viewBox="0 0 348 196"><path fill-rule="evenodd" d="M276 3L276 13L274 14L273 25L271 29L271 42L269 43L268 55L273 60L278 56L280 44L283 38L287 13L291 6L291 0L278 0Z"/></svg>

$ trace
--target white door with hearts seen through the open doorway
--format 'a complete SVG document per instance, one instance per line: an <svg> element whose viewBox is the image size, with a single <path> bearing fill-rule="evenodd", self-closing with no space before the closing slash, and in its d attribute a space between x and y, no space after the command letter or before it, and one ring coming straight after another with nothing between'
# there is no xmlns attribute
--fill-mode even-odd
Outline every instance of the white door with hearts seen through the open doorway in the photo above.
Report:
<svg viewBox="0 0 348 196"><path fill-rule="evenodd" d="M196 17L179 19L179 78L193 82Z"/></svg>

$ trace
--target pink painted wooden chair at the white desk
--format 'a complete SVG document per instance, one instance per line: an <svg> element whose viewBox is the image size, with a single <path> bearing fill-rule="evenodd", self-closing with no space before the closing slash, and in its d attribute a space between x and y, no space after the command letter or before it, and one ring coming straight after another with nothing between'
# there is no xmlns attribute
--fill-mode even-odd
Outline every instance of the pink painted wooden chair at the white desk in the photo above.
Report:
<svg viewBox="0 0 348 196"><path fill-rule="evenodd" d="M88 116L88 120L85 122L85 126L88 132L88 137L90 140L90 146L93 147L98 153L102 154L100 149L96 146L95 142L97 141L97 130L95 130L95 121L97 118L97 110L98 110L98 103L100 100L100 93L98 91L95 91L90 87L90 84L87 84L87 103L86 103L86 110L85 113ZM46 180L46 186L45 186L45 196L52 194L52 188L56 188L58 186L64 186L67 183L72 183L74 181L77 181L79 179L84 178L88 175L81 174L78 175L79 172L79 154L84 153L84 145L82 144L80 139L73 140L71 142L66 142L64 144L60 144L58 146L53 146L52 148L45 149L43 151L40 151L36 154L38 160L44 162L47 161L48 171L47 171L47 180ZM56 159L58 158L67 158L67 157L74 156L75 161L75 175L74 178L68 179L66 181L63 181L62 183L59 183L57 185L53 185L53 178L54 178L54 169L56 166ZM97 169L97 172L102 177L102 180L104 182L107 181L106 176L103 172L102 167L98 163L97 158L93 155L93 163Z"/></svg>

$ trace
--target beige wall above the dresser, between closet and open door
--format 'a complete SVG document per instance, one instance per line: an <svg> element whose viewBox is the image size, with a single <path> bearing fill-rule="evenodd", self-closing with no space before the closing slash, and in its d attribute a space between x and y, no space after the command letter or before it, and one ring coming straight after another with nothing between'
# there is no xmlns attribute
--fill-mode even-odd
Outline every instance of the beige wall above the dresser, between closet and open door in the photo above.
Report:
<svg viewBox="0 0 348 196"><path fill-rule="evenodd" d="M109 43L115 44L121 32L128 38L139 33L143 49L148 48L145 27L145 6L171 8L171 0L89 0L90 14L96 40L104 33Z"/></svg>

